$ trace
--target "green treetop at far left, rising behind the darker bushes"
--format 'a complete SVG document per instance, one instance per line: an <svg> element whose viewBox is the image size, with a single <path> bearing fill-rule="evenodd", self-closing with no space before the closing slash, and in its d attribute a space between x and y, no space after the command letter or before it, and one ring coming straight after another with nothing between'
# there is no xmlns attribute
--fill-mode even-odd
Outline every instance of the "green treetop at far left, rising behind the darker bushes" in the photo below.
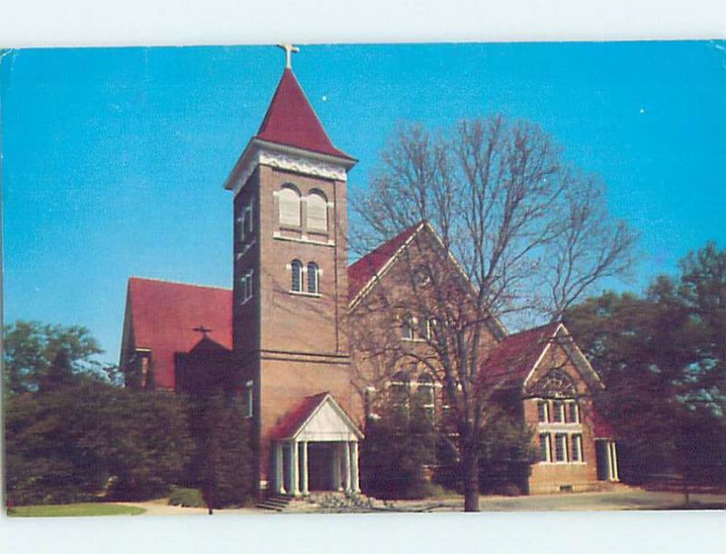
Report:
<svg viewBox="0 0 726 554"><path fill-rule="evenodd" d="M4 326L3 346L7 396L36 391L60 351L74 373L113 378L113 369L97 360L103 353L98 341L81 326L18 320Z"/></svg>

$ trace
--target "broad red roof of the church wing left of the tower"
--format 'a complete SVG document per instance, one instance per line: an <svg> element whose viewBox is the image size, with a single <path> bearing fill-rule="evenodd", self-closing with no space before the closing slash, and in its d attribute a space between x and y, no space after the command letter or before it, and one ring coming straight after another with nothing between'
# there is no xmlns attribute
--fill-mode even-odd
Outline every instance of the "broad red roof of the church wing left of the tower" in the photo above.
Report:
<svg viewBox="0 0 726 554"><path fill-rule="evenodd" d="M201 339L194 327L211 329L210 339L232 347L232 292L132 277L128 299L136 348L152 351L154 381L174 388L174 352L190 351Z"/></svg>

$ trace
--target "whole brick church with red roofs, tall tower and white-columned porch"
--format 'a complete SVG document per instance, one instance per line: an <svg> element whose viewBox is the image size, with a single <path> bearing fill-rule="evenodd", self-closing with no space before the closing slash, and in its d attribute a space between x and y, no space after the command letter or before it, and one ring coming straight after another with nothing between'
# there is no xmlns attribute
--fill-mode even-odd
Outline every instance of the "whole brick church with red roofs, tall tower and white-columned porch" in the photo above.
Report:
<svg viewBox="0 0 726 554"><path fill-rule="evenodd" d="M419 224L348 265L346 185L355 164L330 141L288 52L260 130L224 183L234 218L232 289L128 282L120 361L127 386L185 391L192 361L202 361L201 371L205 359L232 367L263 494L358 491L371 391L430 391L434 417L446 408L436 376L391 371L386 382L366 382L367 361L350 341L351 328L380 332L367 302L395 278L401 252L435 233ZM418 347L426 337L413 323L399 326L397 340ZM612 430L575 400L602 383L564 325L510 334L496 322L486 345L484 386L525 392L519 411L541 453L528 490L618 480Z"/></svg>

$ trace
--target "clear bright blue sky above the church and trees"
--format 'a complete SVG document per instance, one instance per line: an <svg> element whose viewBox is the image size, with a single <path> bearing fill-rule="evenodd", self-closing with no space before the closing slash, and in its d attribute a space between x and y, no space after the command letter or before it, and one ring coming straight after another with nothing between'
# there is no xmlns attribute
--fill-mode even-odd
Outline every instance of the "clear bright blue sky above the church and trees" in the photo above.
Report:
<svg viewBox="0 0 726 554"><path fill-rule="evenodd" d="M231 285L222 183L284 64L271 46L5 54L5 322L83 324L117 361L130 275ZM541 124L641 234L640 290L726 244L726 43L303 46L293 66L365 187L401 121ZM325 100L324 100L325 98Z"/></svg>

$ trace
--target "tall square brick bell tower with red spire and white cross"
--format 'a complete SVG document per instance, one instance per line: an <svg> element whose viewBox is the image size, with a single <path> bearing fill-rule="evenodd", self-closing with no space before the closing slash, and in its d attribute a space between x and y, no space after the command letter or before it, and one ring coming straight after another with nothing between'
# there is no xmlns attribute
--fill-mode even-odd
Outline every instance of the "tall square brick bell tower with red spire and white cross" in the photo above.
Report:
<svg viewBox="0 0 726 554"><path fill-rule="evenodd" d="M303 398L352 409L346 185L336 148L286 67L225 188L234 195L233 351L254 391L260 481L270 433Z"/></svg>

